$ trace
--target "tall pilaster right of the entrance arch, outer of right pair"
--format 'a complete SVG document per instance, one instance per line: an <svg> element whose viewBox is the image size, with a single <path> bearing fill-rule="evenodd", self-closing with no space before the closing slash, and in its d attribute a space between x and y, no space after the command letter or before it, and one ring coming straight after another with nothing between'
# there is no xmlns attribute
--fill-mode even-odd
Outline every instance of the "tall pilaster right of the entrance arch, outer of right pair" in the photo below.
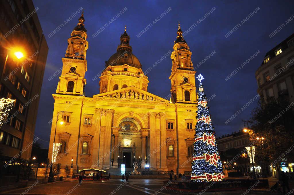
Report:
<svg viewBox="0 0 294 195"><path fill-rule="evenodd" d="M160 168L167 171L166 167L166 113L159 113L160 115Z"/></svg>

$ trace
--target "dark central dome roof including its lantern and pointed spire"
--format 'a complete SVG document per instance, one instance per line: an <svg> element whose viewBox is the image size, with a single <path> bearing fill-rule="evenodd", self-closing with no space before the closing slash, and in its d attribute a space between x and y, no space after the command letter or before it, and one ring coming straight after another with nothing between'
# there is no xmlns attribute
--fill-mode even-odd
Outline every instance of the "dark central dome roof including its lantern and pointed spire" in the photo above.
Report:
<svg viewBox="0 0 294 195"><path fill-rule="evenodd" d="M113 54L108 61L105 62L105 67L119 66L127 64L135 68L142 68L142 65L138 58L132 53L132 47L130 46L130 36L126 32L121 35L121 44L117 47L117 52Z"/></svg>

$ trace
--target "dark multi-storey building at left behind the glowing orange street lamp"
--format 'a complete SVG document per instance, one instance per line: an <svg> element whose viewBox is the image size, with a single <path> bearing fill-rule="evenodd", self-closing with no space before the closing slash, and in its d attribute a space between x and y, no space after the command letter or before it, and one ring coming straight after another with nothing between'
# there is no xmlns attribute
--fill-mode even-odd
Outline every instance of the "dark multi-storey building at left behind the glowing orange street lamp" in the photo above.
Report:
<svg viewBox="0 0 294 195"><path fill-rule="evenodd" d="M9 115L1 116L4 123L0 129L0 158L5 165L1 166L4 175L11 175L13 167L31 157L48 53L38 10L31 0L0 1L0 98L15 100Z"/></svg>

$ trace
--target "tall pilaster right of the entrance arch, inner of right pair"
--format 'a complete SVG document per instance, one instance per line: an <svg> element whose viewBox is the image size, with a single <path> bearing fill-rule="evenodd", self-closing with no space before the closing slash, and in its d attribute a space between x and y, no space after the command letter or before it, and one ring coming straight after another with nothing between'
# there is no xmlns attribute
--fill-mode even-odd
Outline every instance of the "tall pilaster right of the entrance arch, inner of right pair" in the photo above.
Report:
<svg viewBox="0 0 294 195"><path fill-rule="evenodd" d="M150 167L156 168L156 112L149 112L150 115L150 151L148 152L149 159L148 163L150 163Z"/></svg>

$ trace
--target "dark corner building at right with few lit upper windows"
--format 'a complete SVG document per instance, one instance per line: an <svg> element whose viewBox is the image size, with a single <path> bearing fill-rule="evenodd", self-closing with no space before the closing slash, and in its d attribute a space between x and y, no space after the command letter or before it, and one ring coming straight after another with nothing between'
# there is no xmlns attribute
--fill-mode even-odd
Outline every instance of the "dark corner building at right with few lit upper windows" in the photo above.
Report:
<svg viewBox="0 0 294 195"><path fill-rule="evenodd" d="M255 72L257 92L262 101L267 97L285 96L294 101L294 34L265 54Z"/></svg>

